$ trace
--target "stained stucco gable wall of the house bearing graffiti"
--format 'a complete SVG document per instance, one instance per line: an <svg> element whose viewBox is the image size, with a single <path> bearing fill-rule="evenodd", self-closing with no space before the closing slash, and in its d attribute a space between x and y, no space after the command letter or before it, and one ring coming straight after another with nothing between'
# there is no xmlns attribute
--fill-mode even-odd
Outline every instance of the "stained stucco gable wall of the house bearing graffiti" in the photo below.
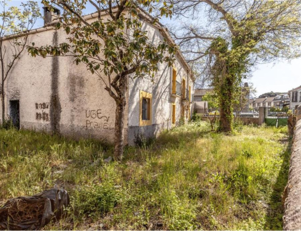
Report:
<svg viewBox="0 0 301 231"><path fill-rule="evenodd" d="M29 35L28 44L54 45L65 38L62 30L48 30ZM66 136L112 142L115 101L104 87L73 57L33 58L25 50L6 82L6 114L10 115L10 100L20 100L22 129L58 130ZM127 117L124 125L127 140Z"/></svg>

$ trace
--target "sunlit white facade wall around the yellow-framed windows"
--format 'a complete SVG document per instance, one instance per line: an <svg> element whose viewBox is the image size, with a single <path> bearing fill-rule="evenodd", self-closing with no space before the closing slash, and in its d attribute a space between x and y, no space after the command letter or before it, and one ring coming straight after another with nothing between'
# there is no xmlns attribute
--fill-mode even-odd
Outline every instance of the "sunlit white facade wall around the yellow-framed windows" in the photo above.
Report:
<svg viewBox="0 0 301 231"><path fill-rule="evenodd" d="M159 30L153 25L144 22L143 29L148 32L148 36L153 43L163 41L163 37ZM182 98L172 96L172 70L177 70L177 81L182 83L184 78L186 81L186 88L191 86L191 93L193 93L194 83L190 77L187 76L187 69L180 61L179 56L176 55L176 61L173 67L169 67L167 63L159 63L159 70L155 75L154 82L150 79L133 79L129 80L129 102L128 102L128 142L133 142L139 139L139 136L145 138L157 136L164 129L172 128L172 104L176 104L176 125L181 119ZM152 97L152 125L139 126L139 93L145 91L151 93ZM192 114L192 103L189 104ZM187 110L189 113L189 109ZM190 119L187 114L184 114L186 121Z"/></svg>

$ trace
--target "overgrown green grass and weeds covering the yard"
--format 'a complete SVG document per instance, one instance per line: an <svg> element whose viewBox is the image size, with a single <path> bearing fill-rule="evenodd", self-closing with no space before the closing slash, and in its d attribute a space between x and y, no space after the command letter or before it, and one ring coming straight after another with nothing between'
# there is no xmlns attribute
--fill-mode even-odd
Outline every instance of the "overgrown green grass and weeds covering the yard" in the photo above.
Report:
<svg viewBox="0 0 301 231"><path fill-rule="evenodd" d="M111 152L93 140L0 130L0 198L65 187L67 216L45 229L282 228L286 127L225 136L196 122L126 148L122 163L104 164Z"/></svg>

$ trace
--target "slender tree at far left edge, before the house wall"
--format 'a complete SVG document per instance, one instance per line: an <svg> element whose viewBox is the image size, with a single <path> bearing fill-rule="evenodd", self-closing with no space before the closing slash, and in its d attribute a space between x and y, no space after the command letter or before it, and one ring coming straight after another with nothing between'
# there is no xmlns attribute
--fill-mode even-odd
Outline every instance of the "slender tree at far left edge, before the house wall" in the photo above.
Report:
<svg viewBox="0 0 301 231"><path fill-rule="evenodd" d="M8 1L0 1L0 68L1 82L0 94L2 101L2 123L5 123L5 90L4 85L9 74L25 49L28 32L34 27L37 19L41 17L37 2L27 1L21 3L21 8L9 7ZM7 9L8 8L8 9ZM7 36L19 34L4 43Z"/></svg>

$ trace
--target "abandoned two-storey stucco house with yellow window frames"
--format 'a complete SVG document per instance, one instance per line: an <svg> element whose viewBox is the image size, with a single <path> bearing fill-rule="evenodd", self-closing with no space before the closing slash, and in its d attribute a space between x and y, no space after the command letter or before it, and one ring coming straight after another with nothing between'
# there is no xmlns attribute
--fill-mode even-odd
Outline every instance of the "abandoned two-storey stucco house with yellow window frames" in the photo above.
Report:
<svg viewBox="0 0 301 231"><path fill-rule="evenodd" d="M28 44L45 46L66 42L67 35L63 29L52 26L55 17L49 15L59 12L45 10L44 14L45 26L29 32ZM85 18L96 20L97 13ZM144 21L143 30L148 32L149 41L168 39L174 43L161 24ZM12 36L5 38L6 46ZM190 66L180 51L173 67L167 63L158 65L155 83L128 78L124 141L129 145L139 136L157 136L191 117L194 78ZM24 51L6 81L7 118L20 129L113 142L116 107L104 88L104 83L84 64L76 65L73 57L33 58Z"/></svg>

